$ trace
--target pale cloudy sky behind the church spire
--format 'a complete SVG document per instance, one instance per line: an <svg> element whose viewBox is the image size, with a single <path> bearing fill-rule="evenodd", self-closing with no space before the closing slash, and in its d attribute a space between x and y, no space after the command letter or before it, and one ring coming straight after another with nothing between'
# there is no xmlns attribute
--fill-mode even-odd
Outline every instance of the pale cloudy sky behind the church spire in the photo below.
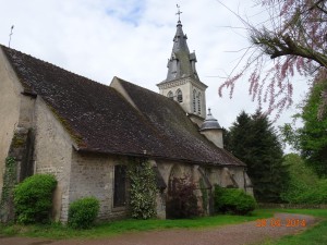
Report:
<svg viewBox="0 0 327 245"><path fill-rule="evenodd" d="M221 0L253 23L267 20L252 0ZM207 108L223 127L241 110L254 112L257 105L242 81L232 99L218 87L249 46L238 17L216 0L0 0L0 44L59 65L94 81L110 84L119 76L154 91L167 75L181 5L183 30L190 51L195 50L197 73L208 85ZM233 27L233 28L231 28ZM294 86L294 100L305 91L305 81ZM291 122L294 110L277 122Z"/></svg>

